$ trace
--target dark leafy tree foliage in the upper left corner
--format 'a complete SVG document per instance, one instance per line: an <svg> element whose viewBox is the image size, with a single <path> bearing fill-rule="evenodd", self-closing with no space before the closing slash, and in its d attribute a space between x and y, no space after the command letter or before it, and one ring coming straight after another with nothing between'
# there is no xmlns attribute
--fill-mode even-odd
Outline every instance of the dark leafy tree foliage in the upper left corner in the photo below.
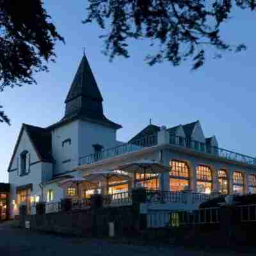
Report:
<svg viewBox="0 0 256 256"><path fill-rule="evenodd" d="M54 45L64 42L41 0L0 0L0 91L36 83L33 74L47 71ZM0 122L10 124L3 111Z"/></svg>

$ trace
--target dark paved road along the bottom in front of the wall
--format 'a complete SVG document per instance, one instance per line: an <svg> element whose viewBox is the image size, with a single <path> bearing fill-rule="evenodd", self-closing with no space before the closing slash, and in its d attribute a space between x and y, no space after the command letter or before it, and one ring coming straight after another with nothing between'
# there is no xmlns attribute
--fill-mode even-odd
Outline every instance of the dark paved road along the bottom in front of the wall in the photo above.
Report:
<svg viewBox="0 0 256 256"><path fill-rule="evenodd" d="M202 252L180 246L132 246L100 239L55 236L0 225L0 255L2 256L222 256L256 255L235 252Z"/></svg>

